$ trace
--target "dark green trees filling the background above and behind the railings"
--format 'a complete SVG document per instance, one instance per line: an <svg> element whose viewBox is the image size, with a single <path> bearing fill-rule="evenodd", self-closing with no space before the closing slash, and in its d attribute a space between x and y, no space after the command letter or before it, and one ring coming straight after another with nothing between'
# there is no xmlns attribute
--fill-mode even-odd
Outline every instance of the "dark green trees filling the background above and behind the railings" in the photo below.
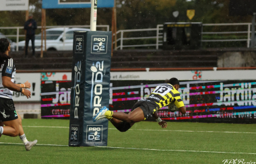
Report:
<svg viewBox="0 0 256 164"><path fill-rule="evenodd" d="M117 30L156 28L158 24L164 24L164 22L202 22L203 24L251 22L251 15L244 17L229 16L228 0L116 0L116 5ZM30 13L33 13L34 19L36 19L38 26L41 24L41 7L42 0L30 0ZM193 17L191 20L189 20L187 17L187 9L195 9L195 17ZM179 16L177 18L174 18L172 15L173 11L179 11ZM0 13L1 27L24 26L26 14L25 11L0 11ZM113 12L111 8L98 8L97 24L111 26L112 13ZM89 24L90 8L46 9L47 26L71 26ZM203 32L230 31L247 31L247 26L203 27ZM14 35L17 31L0 30L0 32L3 34ZM36 34L39 33L40 29L36 31ZM21 30L20 34L24 34L24 30ZM152 35L150 32L148 32L148 34L149 36L156 36L156 34ZM125 37L135 37L136 34L125 35ZM239 38L240 36L233 35L230 37ZM205 36L203 36L203 38L205 38ZM15 38L12 39L15 40ZM154 41L130 40L125 42L129 42L127 44L133 44L133 42L146 42L150 44Z"/></svg>

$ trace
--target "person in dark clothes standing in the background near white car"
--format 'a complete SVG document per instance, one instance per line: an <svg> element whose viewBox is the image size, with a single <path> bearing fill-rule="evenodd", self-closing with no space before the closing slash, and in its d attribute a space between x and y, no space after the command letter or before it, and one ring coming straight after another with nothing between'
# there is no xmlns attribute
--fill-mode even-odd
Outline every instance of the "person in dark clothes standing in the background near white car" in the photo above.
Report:
<svg viewBox="0 0 256 164"><path fill-rule="evenodd" d="M25 25L24 25L24 30L26 30L26 46L25 46L25 55L26 57L28 57L28 43L32 42L32 50L33 50L33 53L32 53L32 56L34 56L34 34L35 34L35 30L37 29L37 26L36 26L36 21L33 19L33 15L29 15L28 16L28 20L25 22Z"/></svg>

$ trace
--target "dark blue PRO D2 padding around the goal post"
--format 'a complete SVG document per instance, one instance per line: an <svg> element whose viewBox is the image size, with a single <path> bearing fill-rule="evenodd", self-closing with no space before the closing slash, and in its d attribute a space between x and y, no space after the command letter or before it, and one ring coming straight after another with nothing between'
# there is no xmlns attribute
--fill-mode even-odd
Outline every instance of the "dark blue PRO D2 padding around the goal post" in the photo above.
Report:
<svg viewBox="0 0 256 164"><path fill-rule="evenodd" d="M108 120L92 122L109 106L112 32L74 32L69 146L106 146Z"/></svg>

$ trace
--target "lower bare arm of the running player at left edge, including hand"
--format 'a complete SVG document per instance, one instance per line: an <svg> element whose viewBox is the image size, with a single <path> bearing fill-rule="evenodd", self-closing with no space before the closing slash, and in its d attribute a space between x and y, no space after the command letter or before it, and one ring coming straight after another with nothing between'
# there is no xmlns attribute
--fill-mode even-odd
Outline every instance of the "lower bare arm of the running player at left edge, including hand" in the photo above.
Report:
<svg viewBox="0 0 256 164"><path fill-rule="evenodd" d="M6 87L11 91L22 92L24 95L26 95L26 97L30 98L30 95L31 95L30 91L28 91L27 89L22 89L21 87L18 87L17 85L15 85L15 83L11 81L11 77L3 76L2 80L3 80L3 87Z"/></svg>

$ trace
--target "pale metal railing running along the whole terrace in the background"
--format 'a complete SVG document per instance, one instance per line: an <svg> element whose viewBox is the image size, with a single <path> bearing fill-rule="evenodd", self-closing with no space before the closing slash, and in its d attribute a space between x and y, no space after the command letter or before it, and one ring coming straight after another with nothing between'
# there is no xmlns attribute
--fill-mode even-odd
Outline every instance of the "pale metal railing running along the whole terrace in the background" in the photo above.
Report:
<svg viewBox="0 0 256 164"><path fill-rule="evenodd" d="M206 31L207 27L212 26L213 28L233 26L243 27L244 30L234 30L234 31ZM41 27L38 26L40 29ZM46 28L90 28L90 26L46 26ZM7 38L15 38L15 42L18 45L21 37L25 37L24 34L20 34L24 27L0 27L0 31L3 30L16 30L16 34L5 35ZM108 25L98 25L97 29L104 29L109 31ZM245 30L246 29L246 30ZM142 33L146 32L146 36ZM239 23L239 24L203 24L203 32L201 42L247 42L247 48L249 48L251 41L251 23ZM205 35L220 35L219 39L203 39ZM117 41L113 42L115 44L115 50L123 50L124 48L156 48L159 49L163 45L163 25L158 24L156 28L147 29L134 29L134 30L119 30L117 32ZM243 38L232 38L226 39L224 35L243 35ZM148 41L150 40L150 42ZM130 44L127 44L130 43ZM131 44L132 43L132 44ZM134 44L133 44L134 43ZM18 46L16 46L18 50Z"/></svg>

